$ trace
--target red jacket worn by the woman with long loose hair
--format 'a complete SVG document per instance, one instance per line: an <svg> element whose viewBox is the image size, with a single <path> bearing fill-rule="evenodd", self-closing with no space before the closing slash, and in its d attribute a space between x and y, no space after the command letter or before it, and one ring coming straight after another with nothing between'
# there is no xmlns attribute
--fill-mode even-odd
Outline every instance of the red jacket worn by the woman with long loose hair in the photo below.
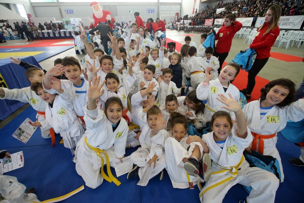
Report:
<svg viewBox="0 0 304 203"><path fill-rule="evenodd" d="M267 30L268 26L269 23L265 23L262 30L257 30L257 35L250 45L250 48L255 49L257 52L257 59L270 57L270 49L272 45L275 44L275 40L280 34L279 26L276 26L275 29L266 34L265 31Z"/></svg>

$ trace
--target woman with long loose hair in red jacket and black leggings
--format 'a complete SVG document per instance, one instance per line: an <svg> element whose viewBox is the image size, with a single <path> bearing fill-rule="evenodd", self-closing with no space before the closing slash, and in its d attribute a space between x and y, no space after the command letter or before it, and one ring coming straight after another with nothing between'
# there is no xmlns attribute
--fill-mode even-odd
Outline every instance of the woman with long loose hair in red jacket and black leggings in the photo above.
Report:
<svg viewBox="0 0 304 203"><path fill-rule="evenodd" d="M270 49L280 34L278 21L280 19L281 12L281 6L272 5L265 15L264 23L257 30L257 35L255 36L252 44L244 49L244 51L246 51L251 48L255 49L257 52L254 64L248 72L247 87L246 89L240 90L248 100L250 99L251 92L255 86L255 77L267 63L268 58L270 57Z"/></svg>

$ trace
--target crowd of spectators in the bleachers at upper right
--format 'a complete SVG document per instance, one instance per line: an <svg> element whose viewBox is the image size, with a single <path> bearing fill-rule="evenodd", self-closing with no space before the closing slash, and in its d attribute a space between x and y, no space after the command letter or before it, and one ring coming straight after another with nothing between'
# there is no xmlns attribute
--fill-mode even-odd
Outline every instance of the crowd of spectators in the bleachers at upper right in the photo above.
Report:
<svg viewBox="0 0 304 203"><path fill-rule="evenodd" d="M219 19L224 18L228 13L235 13L237 18L245 17L264 17L268 7L274 4L278 4L282 7L281 16L294 16L304 15L304 2L302 0L267 0L267 1L234 1L234 2L220 2L213 7L207 6L206 9L202 9L200 12L196 12L195 16L189 17L185 15L183 20L192 20L194 25L200 25L204 23L205 19ZM225 8L220 13L216 13L216 9Z"/></svg>

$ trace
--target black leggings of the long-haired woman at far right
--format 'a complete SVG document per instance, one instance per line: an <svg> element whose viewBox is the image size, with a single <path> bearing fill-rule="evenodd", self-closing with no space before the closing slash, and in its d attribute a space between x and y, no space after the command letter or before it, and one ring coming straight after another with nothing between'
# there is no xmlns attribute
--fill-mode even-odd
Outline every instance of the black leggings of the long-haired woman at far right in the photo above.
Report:
<svg viewBox="0 0 304 203"><path fill-rule="evenodd" d="M248 82L247 82L247 87L246 87L248 95L251 95L252 90L255 86L255 77L262 70L262 68L267 63L267 61L268 61L268 58L255 59L253 65L252 65L252 68L248 72Z"/></svg>

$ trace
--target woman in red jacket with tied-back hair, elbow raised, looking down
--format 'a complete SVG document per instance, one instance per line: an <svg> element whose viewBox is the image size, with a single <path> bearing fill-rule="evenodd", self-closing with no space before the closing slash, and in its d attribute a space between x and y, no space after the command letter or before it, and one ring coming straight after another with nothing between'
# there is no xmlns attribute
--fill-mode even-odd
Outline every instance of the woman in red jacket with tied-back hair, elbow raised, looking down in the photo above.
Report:
<svg viewBox="0 0 304 203"><path fill-rule="evenodd" d="M222 65L229 54L234 34L239 31L242 26L242 23L236 21L236 16L229 13L225 16L223 27L216 33L215 40L218 41L212 55L219 58L218 72L221 72ZM212 30L210 32L212 32Z"/></svg>

